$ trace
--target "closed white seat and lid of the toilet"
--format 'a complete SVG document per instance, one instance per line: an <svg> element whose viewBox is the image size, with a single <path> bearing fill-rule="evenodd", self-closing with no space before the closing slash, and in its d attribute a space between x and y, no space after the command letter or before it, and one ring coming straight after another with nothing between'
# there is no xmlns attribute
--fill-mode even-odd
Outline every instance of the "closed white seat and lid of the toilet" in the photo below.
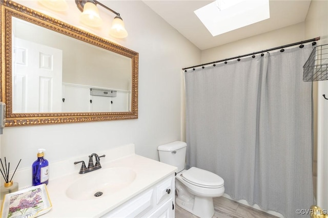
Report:
<svg viewBox="0 0 328 218"><path fill-rule="evenodd" d="M182 179L188 183L204 188L220 188L224 186L224 180L213 172L191 167L183 171Z"/></svg>

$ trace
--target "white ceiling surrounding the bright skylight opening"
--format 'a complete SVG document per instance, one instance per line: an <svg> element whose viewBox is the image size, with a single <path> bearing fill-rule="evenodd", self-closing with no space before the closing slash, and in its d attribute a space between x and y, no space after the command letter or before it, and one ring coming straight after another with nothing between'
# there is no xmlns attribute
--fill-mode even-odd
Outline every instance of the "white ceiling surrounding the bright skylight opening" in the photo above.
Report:
<svg viewBox="0 0 328 218"><path fill-rule="evenodd" d="M144 2L196 47L204 50L301 23L306 18L311 0L270 0L269 19L217 36L212 36L194 13L195 10L214 0L144 0Z"/></svg>

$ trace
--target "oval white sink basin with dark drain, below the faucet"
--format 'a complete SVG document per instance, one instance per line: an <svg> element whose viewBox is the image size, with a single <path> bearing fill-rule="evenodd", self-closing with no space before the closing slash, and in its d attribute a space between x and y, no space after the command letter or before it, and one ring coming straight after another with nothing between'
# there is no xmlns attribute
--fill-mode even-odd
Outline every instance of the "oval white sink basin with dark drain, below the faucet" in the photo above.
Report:
<svg viewBox="0 0 328 218"><path fill-rule="evenodd" d="M101 198L126 188L135 178L136 172L130 168L98 169L74 181L67 188L66 195L73 200ZM100 196L95 197L95 194Z"/></svg>

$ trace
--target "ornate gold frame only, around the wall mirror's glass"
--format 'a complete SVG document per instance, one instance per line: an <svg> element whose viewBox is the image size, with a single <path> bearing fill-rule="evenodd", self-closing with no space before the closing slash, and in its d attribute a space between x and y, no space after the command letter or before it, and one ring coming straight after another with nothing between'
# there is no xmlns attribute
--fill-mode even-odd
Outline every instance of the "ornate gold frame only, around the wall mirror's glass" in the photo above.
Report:
<svg viewBox="0 0 328 218"><path fill-rule="evenodd" d="M7 105L6 126L26 126L55 123L92 122L138 118L138 59L139 54L111 41L68 25L60 20L34 11L18 3L1 0L0 101ZM12 113L12 17L85 41L91 45L131 58L131 112L83 113Z"/></svg>

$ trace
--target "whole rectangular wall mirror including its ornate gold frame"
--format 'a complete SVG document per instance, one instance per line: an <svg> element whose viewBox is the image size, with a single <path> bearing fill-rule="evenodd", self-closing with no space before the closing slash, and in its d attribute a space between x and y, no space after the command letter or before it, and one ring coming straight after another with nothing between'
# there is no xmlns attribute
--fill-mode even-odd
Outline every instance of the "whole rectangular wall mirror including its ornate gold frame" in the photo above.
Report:
<svg viewBox="0 0 328 218"><path fill-rule="evenodd" d="M1 1L6 126L138 118L135 51Z"/></svg>

